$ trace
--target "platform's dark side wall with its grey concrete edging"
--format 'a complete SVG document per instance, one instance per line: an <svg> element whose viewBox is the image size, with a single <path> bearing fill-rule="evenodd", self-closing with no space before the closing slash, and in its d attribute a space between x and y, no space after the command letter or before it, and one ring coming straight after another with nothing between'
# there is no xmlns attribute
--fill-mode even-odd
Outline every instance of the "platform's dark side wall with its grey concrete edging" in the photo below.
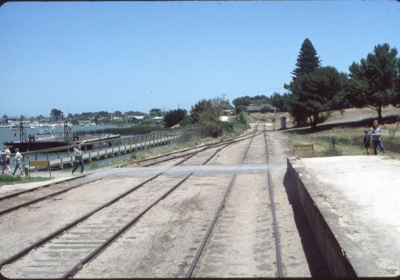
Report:
<svg viewBox="0 0 400 280"><path fill-rule="evenodd" d="M379 277L383 273L348 237L340 232L338 216L323 203L315 183L304 178L294 157L287 158L287 171L307 216L312 234L333 277Z"/></svg>

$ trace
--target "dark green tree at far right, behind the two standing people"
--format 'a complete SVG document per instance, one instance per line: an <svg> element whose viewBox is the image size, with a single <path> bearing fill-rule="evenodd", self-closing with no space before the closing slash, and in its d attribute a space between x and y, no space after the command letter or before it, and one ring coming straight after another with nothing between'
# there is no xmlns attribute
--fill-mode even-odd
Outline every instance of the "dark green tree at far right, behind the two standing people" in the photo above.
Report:
<svg viewBox="0 0 400 280"><path fill-rule="evenodd" d="M368 107L382 118L382 108L400 104L400 60L397 49L388 44L376 45L366 59L353 62L348 70L352 94L350 102L357 108Z"/></svg>

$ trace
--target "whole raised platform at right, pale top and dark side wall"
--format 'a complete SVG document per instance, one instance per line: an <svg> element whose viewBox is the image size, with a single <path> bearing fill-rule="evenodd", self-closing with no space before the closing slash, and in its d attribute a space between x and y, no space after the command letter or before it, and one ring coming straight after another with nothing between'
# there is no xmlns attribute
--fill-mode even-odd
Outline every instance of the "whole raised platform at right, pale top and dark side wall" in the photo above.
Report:
<svg viewBox="0 0 400 280"><path fill-rule="evenodd" d="M335 277L400 275L400 162L384 156L287 159Z"/></svg>

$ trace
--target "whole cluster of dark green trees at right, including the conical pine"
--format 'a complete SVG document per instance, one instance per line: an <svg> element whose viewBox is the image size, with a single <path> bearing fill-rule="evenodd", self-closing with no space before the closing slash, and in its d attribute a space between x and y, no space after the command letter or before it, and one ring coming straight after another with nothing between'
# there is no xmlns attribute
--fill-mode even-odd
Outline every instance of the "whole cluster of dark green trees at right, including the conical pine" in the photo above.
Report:
<svg viewBox="0 0 400 280"><path fill-rule="evenodd" d="M382 108L400 107L400 59L397 49L377 44L366 58L353 61L349 74L333 66L321 66L311 41L301 44L291 72L292 80L284 84L287 92L274 92L270 104L287 111L297 125L310 124L311 129L327 119L333 110L370 108L382 119Z"/></svg>

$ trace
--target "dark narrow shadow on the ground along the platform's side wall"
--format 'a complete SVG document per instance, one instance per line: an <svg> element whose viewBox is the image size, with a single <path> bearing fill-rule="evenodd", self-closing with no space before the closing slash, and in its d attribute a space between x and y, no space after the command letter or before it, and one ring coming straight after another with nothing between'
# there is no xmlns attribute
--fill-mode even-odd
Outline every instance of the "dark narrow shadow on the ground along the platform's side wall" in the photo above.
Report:
<svg viewBox="0 0 400 280"><path fill-rule="evenodd" d="M294 222L300 236L301 245L304 255L308 263L311 277L332 277L329 269L322 257L322 254L316 244L311 228L308 224L307 217L301 207L298 195L290 180L289 173L286 171L283 177L283 186L285 188L287 198L294 214Z"/></svg>

